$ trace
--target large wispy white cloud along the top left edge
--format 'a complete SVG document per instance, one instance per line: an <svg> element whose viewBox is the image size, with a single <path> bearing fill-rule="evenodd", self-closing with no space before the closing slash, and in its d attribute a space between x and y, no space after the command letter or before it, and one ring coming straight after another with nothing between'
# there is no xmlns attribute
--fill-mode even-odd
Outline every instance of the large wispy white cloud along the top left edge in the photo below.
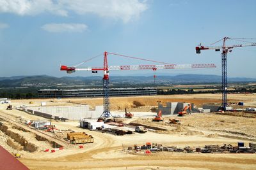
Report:
<svg viewBox="0 0 256 170"><path fill-rule="evenodd" d="M124 22L138 18L147 8L147 1L139 0L0 0L0 13L38 15L49 12L68 16L68 11L72 11L77 15L91 13Z"/></svg>

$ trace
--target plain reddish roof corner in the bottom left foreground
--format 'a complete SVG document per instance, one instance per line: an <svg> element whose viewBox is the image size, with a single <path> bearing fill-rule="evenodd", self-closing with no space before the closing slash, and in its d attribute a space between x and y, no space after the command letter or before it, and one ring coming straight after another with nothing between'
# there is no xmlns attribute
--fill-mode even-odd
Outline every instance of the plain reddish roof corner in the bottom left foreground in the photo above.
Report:
<svg viewBox="0 0 256 170"><path fill-rule="evenodd" d="M24 164L16 159L11 153L0 146L0 169L29 170Z"/></svg>

